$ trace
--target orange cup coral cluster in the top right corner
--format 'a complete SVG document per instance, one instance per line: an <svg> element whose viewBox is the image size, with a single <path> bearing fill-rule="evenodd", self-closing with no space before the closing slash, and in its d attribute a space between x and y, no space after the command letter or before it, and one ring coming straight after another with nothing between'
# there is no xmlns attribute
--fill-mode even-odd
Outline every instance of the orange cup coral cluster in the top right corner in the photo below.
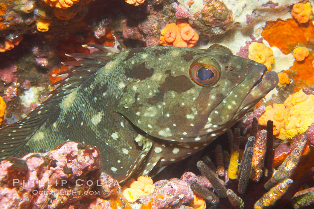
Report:
<svg viewBox="0 0 314 209"><path fill-rule="evenodd" d="M291 15L299 23L307 23L313 18L311 3L297 3L293 5Z"/></svg>

